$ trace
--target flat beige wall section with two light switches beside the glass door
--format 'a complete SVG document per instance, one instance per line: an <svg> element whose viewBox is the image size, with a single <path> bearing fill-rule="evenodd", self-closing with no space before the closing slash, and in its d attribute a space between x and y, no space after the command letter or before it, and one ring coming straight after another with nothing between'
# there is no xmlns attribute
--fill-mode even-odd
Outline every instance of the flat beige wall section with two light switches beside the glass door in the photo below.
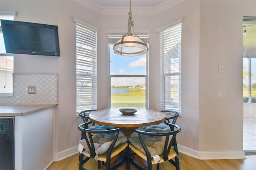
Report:
<svg viewBox="0 0 256 170"><path fill-rule="evenodd" d="M244 158L243 16L256 16L256 1L200 2L200 159Z"/></svg>

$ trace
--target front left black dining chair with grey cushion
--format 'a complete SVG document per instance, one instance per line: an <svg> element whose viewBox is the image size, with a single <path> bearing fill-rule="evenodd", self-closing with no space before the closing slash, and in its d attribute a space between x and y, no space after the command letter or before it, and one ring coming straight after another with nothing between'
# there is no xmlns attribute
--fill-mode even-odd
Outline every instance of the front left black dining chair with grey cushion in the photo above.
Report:
<svg viewBox="0 0 256 170"><path fill-rule="evenodd" d="M86 170L83 165L90 159L106 162L107 170L115 170L127 160L127 156L118 159L118 163L110 168L110 159L116 158L123 150L128 150L127 138L118 136L123 128L108 130L92 130L86 127L92 122L82 123L78 129L82 132L83 139L79 141L79 170ZM126 150L126 152L127 152Z"/></svg>

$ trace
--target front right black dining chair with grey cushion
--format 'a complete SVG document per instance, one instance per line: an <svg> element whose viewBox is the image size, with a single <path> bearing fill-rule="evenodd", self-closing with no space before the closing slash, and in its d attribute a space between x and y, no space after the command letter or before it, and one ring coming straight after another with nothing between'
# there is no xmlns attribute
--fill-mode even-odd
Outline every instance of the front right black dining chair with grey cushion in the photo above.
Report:
<svg viewBox="0 0 256 170"><path fill-rule="evenodd" d="M172 163L176 170L180 170L178 147L174 142L176 134L180 132L180 127L172 123L165 122L166 126L171 128L164 128L162 130L144 131L134 129L134 132L138 133L138 136L132 136L129 140L128 164L130 161L138 170L143 170L136 160L132 159L134 154L137 154L142 159L147 161L148 170L152 170L152 165L157 165L159 170L159 164L168 160ZM156 132L157 131L157 132ZM133 153L131 154L131 150ZM159 159L159 160L158 160ZM128 167L130 170L130 166Z"/></svg>

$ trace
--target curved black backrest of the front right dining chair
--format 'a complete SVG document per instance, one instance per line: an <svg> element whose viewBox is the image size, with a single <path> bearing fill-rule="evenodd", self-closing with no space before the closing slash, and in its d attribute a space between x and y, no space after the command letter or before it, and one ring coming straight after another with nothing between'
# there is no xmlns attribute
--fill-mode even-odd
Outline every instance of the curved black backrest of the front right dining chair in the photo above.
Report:
<svg viewBox="0 0 256 170"><path fill-rule="evenodd" d="M167 132L148 132L148 131L142 131L142 130L138 130L138 129L134 129L134 132L138 133L138 137L140 139L140 143L142 144L142 147L144 148L144 151L147 155L147 159L151 160L152 155L150 154L150 151L148 150L145 141L143 140L144 136L143 135L147 135L148 136L152 136L154 138L156 138L156 136L166 136L165 140L164 140L164 149L161 150L160 152L162 152L162 158L164 160L168 160L168 154L171 150L171 147L176 145L177 143L174 142L176 141L176 134L178 132L180 132L181 128L178 125L174 125L172 123L166 123L166 125L168 125L169 127L171 127L172 130L168 130ZM174 146L174 151L177 153L178 149L176 146Z"/></svg>

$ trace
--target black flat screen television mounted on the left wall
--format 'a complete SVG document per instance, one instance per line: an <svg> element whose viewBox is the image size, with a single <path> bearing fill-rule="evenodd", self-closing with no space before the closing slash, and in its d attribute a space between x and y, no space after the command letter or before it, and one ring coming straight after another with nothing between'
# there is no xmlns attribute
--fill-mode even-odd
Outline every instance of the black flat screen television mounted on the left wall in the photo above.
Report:
<svg viewBox="0 0 256 170"><path fill-rule="evenodd" d="M6 53L60 56L58 26L1 20Z"/></svg>

